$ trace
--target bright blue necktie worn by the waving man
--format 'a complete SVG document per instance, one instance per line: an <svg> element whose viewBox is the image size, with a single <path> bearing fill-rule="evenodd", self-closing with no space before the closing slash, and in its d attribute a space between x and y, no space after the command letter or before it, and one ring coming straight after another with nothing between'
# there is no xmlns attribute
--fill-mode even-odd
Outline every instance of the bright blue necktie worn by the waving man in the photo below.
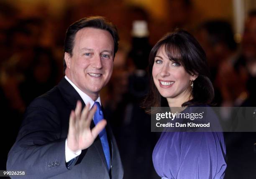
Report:
<svg viewBox="0 0 256 179"><path fill-rule="evenodd" d="M103 112L100 106L100 103L95 101L94 105L97 105L97 111L94 114L94 124L96 125L98 122L100 122L103 119ZM101 145L105 154L105 158L108 164L108 171L110 170L110 150L109 150L109 145L108 145L108 137L107 137L107 132L106 129L104 128L100 134L100 141L101 141Z"/></svg>

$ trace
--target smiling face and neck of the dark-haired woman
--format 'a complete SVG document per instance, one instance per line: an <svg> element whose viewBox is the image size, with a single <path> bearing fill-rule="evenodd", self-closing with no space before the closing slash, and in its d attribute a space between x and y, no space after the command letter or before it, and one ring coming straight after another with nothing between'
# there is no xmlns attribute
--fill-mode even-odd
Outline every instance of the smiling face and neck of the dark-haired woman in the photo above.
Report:
<svg viewBox="0 0 256 179"><path fill-rule="evenodd" d="M167 98L175 104L182 104L189 100L191 96L191 81L195 76L189 75L180 63L170 61L162 46L156 53L152 76L156 88L161 96ZM178 106L176 106L178 107Z"/></svg>

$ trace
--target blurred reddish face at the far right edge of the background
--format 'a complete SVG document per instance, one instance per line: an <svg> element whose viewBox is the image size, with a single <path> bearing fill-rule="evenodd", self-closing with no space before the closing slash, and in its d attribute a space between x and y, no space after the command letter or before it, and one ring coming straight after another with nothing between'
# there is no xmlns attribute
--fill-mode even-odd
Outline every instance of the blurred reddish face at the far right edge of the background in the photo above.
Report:
<svg viewBox="0 0 256 179"><path fill-rule="evenodd" d="M256 60L256 16L252 16L246 21L242 53L248 60Z"/></svg>

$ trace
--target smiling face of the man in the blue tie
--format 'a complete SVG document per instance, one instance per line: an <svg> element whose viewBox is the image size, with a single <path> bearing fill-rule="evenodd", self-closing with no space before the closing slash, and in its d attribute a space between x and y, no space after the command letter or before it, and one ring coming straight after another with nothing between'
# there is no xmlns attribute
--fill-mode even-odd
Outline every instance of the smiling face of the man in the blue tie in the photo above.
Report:
<svg viewBox="0 0 256 179"><path fill-rule="evenodd" d="M73 55L65 53L67 77L96 100L113 71L114 40L107 30L82 28L74 39Z"/></svg>

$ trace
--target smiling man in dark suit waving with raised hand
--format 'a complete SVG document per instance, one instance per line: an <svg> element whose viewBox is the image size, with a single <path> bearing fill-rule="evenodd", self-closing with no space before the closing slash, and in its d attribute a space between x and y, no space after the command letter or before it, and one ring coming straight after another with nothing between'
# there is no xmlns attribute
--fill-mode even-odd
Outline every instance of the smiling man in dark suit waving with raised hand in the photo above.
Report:
<svg viewBox="0 0 256 179"><path fill-rule="evenodd" d="M116 28L102 17L84 18L68 28L66 76L28 106L7 170L25 170L26 176L19 177L31 179L123 178L99 96L110 80L117 50Z"/></svg>

